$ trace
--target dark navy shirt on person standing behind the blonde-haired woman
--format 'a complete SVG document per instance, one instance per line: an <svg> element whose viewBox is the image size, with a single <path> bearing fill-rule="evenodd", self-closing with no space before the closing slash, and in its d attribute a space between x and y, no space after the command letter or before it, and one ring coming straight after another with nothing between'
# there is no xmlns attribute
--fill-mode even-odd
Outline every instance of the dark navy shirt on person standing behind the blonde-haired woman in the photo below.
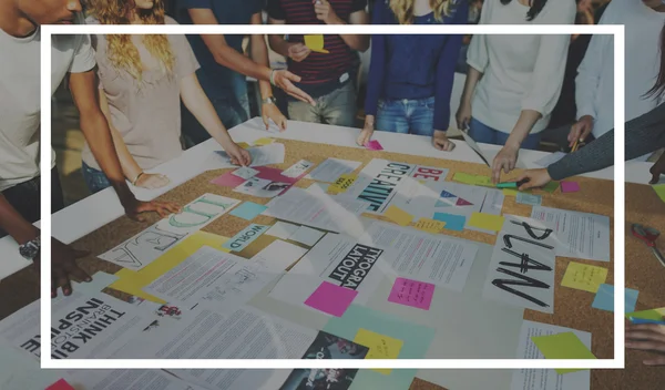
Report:
<svg viewBox="0 0 665 390"><path fill-rule="evenodd" d="M197 8L212 10L219 24L249 24L252 16L260 12L262 2L260 0L177 0L177 22L194 24L187 11ZM243 52L243 34L224 35L226 44L239 53ZM233 91L234 78L241 75L218 64L201 35L191 34L187 39L201 64L196 76L208 99L227 98L229 91Z"/></svg>

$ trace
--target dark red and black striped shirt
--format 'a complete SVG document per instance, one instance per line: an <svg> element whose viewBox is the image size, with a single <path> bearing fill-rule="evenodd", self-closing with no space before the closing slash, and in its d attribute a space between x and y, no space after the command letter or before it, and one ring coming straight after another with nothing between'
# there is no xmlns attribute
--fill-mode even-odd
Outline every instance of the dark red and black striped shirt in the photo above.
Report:
<svg viewBox="0 0 665 390"><path fill-rule="evenodd" d="M330 6L341 20L348 22L351 13L365 10L367 0L331 0ZM268 0L267 11L272 19L285 21L286 24L325 24L316 19L311 0ZM291 34L288 41L304 43L305 38ZM329 53L311 52L301 62L288 59L288 70L301 78L298 84L305 91L320 91L324 84L331 84L328 91L331 92L350 79L351 74L348 73L358 64L357 53L340 35L324 35L324 49Z"/></svg>

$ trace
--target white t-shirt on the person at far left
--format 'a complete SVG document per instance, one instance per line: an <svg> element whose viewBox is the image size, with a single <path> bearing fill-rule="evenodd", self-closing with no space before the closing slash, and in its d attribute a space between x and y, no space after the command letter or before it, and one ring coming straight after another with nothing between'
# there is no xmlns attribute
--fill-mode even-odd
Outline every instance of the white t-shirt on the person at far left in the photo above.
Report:
<svg viewBox="0 0 665 390"><path fill-rule="evenodd" d="M83 23L81 16L76 19ZM0 191L40 174L40 38L39 28L27 38L0 30ZM88 35L53 37L51 47L51 94L68 72L95 65Z"/></svg>

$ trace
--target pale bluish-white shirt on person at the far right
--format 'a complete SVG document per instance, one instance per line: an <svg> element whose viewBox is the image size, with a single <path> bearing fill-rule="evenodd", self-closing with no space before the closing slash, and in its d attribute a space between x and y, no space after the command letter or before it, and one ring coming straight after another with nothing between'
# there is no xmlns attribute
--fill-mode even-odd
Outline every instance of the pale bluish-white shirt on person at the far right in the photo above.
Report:
<svg viewBox="0 0 665 390"><path fill-rule="evenodd" d="M664 99L644 96L656 83L661 66L661 31L665 12L636 0L612 0L600 24L625 25L625 119L649 112ZM595 119L593 135L614 129L614 40L594 35L575 79L577 119Z"/></svg>

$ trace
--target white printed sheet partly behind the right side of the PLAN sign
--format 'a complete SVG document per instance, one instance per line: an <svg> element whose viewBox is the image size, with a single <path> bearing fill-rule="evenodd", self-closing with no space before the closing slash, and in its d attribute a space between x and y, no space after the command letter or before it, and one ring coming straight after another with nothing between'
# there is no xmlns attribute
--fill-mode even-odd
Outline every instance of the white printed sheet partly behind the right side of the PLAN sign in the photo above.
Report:
<svg viewBox="0 0 665 390"><path fill-rule="evenodd" d="M542 206L531 217L554 230L556 256L610 261L610 217Z"/></svg>

